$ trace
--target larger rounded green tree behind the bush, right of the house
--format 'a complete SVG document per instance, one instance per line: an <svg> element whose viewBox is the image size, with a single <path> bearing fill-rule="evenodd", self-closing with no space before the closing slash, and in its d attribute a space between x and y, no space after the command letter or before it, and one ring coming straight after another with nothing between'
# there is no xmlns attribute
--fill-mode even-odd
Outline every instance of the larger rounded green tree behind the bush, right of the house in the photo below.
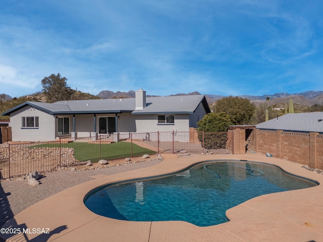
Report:
<svg viewBox="0 0 323 242"><path fill-rule="evenodd" d="M247 98L229 96L217 101L216 110L227 113L233 125L246 125L250 123L255 105Z"/></svg>

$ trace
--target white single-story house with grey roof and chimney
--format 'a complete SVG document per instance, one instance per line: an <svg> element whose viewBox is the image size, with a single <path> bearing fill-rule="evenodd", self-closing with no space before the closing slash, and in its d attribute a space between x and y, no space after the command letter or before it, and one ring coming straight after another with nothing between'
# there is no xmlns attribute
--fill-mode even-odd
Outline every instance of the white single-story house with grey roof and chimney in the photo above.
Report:
<svg viewBox="0 0 323 242"><path fill-rule="evenodd" d="M96 134L189 131L210 109L204 95L24 102L10 115L13 141L50 141Z"/></svg>

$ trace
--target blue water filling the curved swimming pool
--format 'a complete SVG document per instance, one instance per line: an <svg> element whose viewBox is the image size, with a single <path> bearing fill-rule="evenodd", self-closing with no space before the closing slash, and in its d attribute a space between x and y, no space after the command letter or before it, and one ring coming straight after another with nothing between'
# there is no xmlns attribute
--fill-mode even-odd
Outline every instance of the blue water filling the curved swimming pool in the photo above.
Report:
<svg viewBox="0 0 323 242"><path fill-rule="evenodd" d="M251 198L317 185L274 165L209 161L172 175L107 185L90 192L84 203L115 219L210 226L227 222L226 211Z"/></svg>

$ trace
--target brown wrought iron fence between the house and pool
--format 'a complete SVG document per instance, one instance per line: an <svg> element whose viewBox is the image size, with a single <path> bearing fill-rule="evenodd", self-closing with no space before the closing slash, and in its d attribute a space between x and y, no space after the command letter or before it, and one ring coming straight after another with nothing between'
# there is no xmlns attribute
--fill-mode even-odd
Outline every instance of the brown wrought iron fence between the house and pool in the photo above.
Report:
<svg viewBox="0 0 323 242"><path fill-rule="evenodd" d="M34 170L51 171L88 160L97 162L154 153L231 152L232 140L227 133L203 132L96 134L51 142L9 143L0 147L0 178L25 175Z"/></svg>

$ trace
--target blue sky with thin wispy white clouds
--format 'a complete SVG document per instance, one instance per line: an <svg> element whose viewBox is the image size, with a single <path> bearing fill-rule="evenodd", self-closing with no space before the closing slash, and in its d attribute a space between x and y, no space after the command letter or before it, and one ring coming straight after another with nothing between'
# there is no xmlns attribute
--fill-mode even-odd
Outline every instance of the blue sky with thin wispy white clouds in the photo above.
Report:
<svg viewBox="0 0 323 242"><path fill-rule="evenodd" d="M323 90L321 0L3 0L0 93Z"/></svg>

